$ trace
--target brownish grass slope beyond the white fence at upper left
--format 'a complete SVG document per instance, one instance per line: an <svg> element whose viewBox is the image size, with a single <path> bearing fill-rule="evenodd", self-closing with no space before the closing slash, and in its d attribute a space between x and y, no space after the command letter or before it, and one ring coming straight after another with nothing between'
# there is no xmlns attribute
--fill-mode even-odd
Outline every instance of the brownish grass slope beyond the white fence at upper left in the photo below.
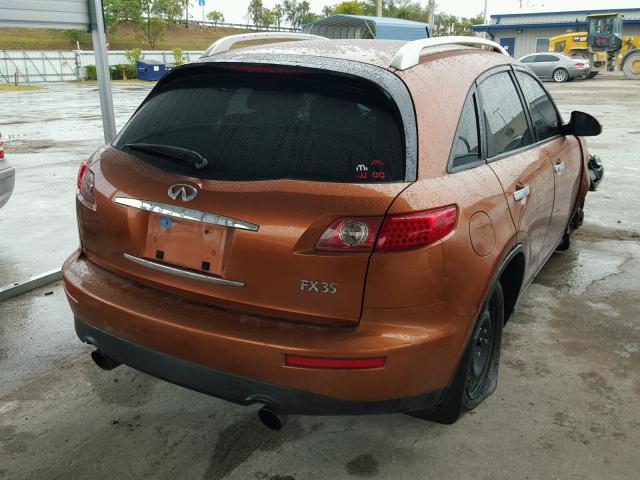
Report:
<svg viewBox="0 0 640 480"><path fill-rule="evenodd" d="M223 27L201 27L190 25L170 25L167 34L155 46L154 50L206 50L209 45L221 37L247 30ZM142 48L150 50L149 44L142 39L139 29L134 24L119 24L107 32L111 50L130 50ZM3 50L75 50L76 44L67 37L64 30L0 28L0 45ZM92 50L91 35L83 35L80 42L83 50Z"/></svg>

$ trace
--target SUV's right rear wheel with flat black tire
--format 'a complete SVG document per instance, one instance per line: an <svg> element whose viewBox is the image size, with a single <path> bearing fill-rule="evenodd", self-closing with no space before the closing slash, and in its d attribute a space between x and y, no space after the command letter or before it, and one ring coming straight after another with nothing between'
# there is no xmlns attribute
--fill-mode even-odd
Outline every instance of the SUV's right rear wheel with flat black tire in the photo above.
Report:
<svg viewBox="0 0 640 480"><path fill-rule="evenodd" d="M504 326L504 295L496 282L476 321L462 360L440 404L411 415L431 422L450 425L460 415L473 410L495 392Z"/></svg>

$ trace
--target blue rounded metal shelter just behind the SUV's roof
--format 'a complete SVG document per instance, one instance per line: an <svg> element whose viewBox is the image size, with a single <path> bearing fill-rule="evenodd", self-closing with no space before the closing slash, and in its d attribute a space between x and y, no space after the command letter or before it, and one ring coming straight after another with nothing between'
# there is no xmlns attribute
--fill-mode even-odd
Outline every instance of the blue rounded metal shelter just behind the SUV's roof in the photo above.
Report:
<svg viewBox="0 0 640 480"><path fill-rule="evenodd" d="M303 25L304 33L327 38L418 40L430 36L429 25L391 17L338 14Z"/></svg>

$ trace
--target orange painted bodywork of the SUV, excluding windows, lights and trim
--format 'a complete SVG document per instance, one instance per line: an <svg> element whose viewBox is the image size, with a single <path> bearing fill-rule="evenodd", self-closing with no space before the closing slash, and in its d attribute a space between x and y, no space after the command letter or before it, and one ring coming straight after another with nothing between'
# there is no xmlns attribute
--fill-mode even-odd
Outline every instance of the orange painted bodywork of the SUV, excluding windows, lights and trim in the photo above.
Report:
<svg viewBox="0 0 640 480"><path fill-rule="evenodd" d="M321 55L327 48L325 42L298 43L305 45L246 51ZM343 43L331 47L332 55L374 65L388 65L401 45L353 42L360 48L354 49ZM589 186L586 149L573 137L447 173L469 89L484 71L510 63L503 55L445 48L395 72L411 92L416 112L415 182L199 180L114 148L102 150L91 165L96 212L78 203L82 248L63 268L74 315L175 358L340 400L377 401L446 388L504 259L522 244L525 277L531 278ZM561 180L553 173L558 158L566 161ZM526 202L514 202L513 191L522 181L534 193ZM157 214L114 202L176 203L167 197L167 188L176 183L198 188L189 208L250 222L258 231L177 221L168 233ZM338 218L446 205L457 207L456 226L428 246L399 252L314 250ZM178 277L124 257L153 259L157 250L165 252L167 263L189 270L206 260L211 274L245 286ZM300 288L301 280L335 282L337 292L310 293ZM386 362L367 370L305 369L285 366L285 354L385 357Z"/></svg>

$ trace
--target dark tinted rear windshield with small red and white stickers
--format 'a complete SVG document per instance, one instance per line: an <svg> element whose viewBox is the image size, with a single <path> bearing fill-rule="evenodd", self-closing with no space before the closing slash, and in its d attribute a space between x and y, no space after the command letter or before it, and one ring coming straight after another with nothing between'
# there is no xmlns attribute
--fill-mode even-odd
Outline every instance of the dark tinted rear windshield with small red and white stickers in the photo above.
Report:
<svg viewBox="0 0 640 480"><path fill-rule="evenodd" d="M207 166L131 144L197 152ZM203 179L398 182L402 123L378 90L319 74L220 73L169 83L132 117L115 147Z"/></svg>

